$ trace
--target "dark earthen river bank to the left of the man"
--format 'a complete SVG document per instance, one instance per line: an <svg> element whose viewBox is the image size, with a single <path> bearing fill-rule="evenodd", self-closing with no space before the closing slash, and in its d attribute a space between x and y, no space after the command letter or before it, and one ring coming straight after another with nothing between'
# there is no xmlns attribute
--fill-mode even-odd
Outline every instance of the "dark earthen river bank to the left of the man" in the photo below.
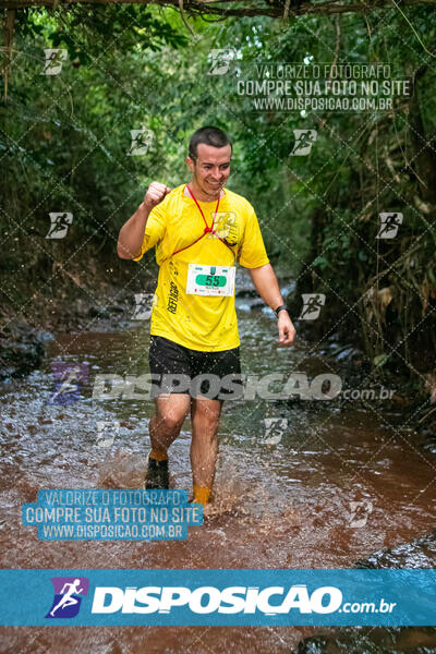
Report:
<svg viewBox="0 0 436 654"><path fill-rule="evenodd" d="M80 267L70 263L66 269L58 263L40 279L32 279L32 270L22 271L0 310L0 380L36 370L56 334L125 327L135 310L135 293L154 290L155 267L152 262L148 271L116 256L108 267L88 251Z"/></svg>

